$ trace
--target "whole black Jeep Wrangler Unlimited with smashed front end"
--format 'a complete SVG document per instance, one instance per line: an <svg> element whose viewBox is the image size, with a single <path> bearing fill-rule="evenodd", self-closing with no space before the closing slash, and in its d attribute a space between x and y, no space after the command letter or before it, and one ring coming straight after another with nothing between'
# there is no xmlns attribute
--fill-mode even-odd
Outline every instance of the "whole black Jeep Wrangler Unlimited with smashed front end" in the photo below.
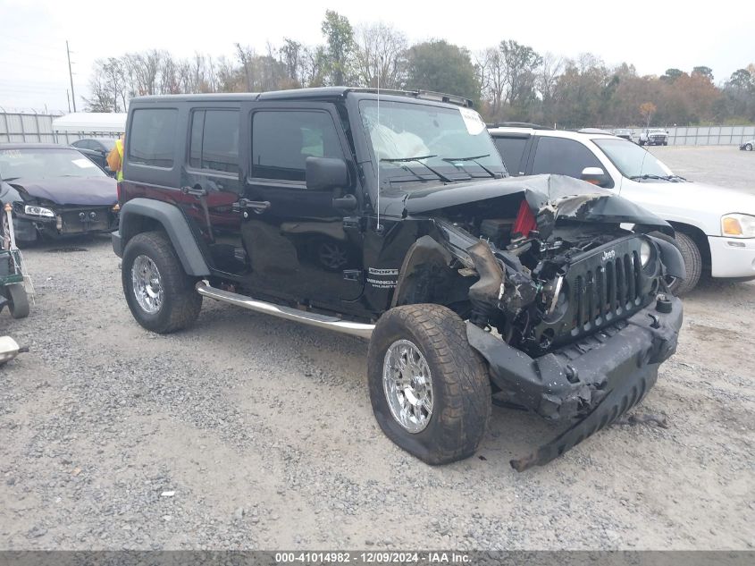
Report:
<svg viewBox="0 0 755 566"><path fill-rule="evenodd" d="M375 418L418 458L474 453L493 399L571 427L630 409L674 353L684 276L658 217L586 182L508 176L479 114L328 88L131 101L119 183L126 300L190 325L204 297L370 339ZM494 397L492 397L494 395Z"/></svg>

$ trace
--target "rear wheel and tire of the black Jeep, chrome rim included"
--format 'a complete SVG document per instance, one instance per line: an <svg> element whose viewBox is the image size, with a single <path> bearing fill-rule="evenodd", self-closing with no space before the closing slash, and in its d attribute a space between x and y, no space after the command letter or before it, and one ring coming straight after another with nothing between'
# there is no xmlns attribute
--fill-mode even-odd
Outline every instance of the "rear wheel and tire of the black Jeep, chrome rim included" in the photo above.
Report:
<svg viewBox="0 0 755 566"><path fill-rule="evenodd" d="M195 278L186 275L164 232L142 232L123 250L123 294L138 324L158 334L191 325L202 308Z"/></svg>

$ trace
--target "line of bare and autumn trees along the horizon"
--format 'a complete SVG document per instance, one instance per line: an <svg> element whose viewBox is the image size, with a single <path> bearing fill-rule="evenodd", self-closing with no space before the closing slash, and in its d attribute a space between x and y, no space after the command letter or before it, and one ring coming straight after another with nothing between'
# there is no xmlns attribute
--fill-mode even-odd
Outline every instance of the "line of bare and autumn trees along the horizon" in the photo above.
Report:
<svg viewBox="0 0 755 566"><path fill-rule="evenodd" d="M755 122L753 63L717 84L703 65L641 76L629 63L609 67L591 54L540 54L511 39L475 53L444 39L409 45L390 25L352 26L330 10L321 31L320 45L284 38L263 53L236 43L231 55L219 57L179 59L150 50L99 59L85 102L91 112L122 112L131 97L143 95L379 85L470 98L488 122L566 128Z"/></svg>

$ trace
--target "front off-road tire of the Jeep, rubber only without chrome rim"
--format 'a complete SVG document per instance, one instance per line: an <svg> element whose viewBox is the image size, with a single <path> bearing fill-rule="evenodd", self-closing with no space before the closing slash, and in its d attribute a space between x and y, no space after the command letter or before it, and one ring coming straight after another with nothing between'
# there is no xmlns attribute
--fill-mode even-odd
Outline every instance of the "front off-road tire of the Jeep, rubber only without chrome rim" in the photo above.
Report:
<svg viewBox="0 0 755 566"><path fill-rule="evenodd" d="M422 351L432 376L432 416L412 434L390 412L383 389L385 354L398 340ZM373 412L383 433L428 464L468 458L477 450L491 416L491 383L482 358L469 345L464 321L433 304L391 308L378 320L367 353Z"/></svg>

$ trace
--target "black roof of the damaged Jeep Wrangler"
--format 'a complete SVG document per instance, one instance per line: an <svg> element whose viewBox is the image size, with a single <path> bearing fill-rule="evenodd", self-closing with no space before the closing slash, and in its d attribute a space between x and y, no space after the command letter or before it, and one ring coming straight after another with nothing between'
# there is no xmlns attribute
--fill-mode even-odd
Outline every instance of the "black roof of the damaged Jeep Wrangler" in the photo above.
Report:
<svg viewBox="0 0 755 566"><path fill-rule="evenodd" d="M336 99L343 98L348 93L363 93L384 95L386 97L413 97L433 102L445 102L457 106L472 106L472 102L464 97L449 95L430 90L390 90L390 89L357 89L352 87L319 87L315 89L271 90L268 92L214 92L207 94L181 94L136 97L131 100L138 103L160 102L244 102L256 100L307 100L307 99Z"/></svg>

